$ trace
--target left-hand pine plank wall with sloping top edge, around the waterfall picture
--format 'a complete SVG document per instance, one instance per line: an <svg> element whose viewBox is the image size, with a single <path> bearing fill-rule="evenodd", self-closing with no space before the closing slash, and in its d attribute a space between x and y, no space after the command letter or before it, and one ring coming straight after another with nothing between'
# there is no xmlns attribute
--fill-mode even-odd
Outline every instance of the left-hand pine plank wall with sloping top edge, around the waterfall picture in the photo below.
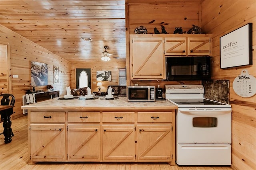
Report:
<svg viewBox="0 0 256 170"><path fill-rule="evenodd" d="M21 35L11 31L10 29L0 25L0 44L8 45L10 48L8 63L10 69L8 77L10 79L9 89L1 86L0 94L9 93L15 97L15 107L13 119L22 116L22 95L26 90L32 90L31 87L31 61L48 64L48 84L54 86L55 90L60 90L60 95L66 93L66 86L70 85L70 63L58 57L52 52L44 49L43 47L33 43L32 41L22 37ZM2 61L0 61L0 64ZM60 73L60 83L53 83L53 66L58 66ZM6 73L4 73L6 74ZM18 78L12 78L12 75L18 75ZM8 81L1 77L1 84L8 85ZM45 90L46 86L35 87L36 90Z"/></svg>

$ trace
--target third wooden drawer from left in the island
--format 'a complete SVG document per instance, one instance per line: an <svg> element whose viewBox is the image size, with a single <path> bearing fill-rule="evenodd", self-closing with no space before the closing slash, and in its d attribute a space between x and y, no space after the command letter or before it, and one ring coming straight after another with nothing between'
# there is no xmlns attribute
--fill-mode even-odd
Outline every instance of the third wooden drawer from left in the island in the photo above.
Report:
<svg viewBox="0 0 256 170"><path fill-rule="evenodd" d="M134 123L134 112L102 112L102 122Z"/></svg>

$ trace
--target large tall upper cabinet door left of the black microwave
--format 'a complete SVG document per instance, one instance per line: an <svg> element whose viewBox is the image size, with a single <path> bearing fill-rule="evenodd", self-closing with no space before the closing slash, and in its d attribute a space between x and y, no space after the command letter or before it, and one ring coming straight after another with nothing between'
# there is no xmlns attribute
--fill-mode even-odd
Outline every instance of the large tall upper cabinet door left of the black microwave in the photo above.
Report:
<svg viewBox="0 0 256 170"><path fill-rule="evenodd" d="M131 35L130 37L131 79L165 78L163 38Z"/></svg>

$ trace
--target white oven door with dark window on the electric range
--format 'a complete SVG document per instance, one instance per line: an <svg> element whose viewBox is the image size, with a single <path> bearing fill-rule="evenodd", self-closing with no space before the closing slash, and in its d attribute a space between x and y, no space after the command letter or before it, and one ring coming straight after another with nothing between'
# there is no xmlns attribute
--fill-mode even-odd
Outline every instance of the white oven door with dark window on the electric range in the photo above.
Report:
<svg viewBox="0 0 256 170"><path fill-rule="evenodd" d="M176 126L179 144L231 143L231 108L179 108Z"/></svg>

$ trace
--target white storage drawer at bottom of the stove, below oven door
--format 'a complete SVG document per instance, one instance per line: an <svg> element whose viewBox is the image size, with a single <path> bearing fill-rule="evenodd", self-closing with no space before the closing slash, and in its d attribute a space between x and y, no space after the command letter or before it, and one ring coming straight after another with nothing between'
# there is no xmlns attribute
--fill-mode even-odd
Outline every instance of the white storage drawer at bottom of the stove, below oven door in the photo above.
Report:
<svg viewBox="0 0 256 170"><path fill-rule="evenodd" d="M231 165L230 144L178 144L178 165Z"/></svg>

